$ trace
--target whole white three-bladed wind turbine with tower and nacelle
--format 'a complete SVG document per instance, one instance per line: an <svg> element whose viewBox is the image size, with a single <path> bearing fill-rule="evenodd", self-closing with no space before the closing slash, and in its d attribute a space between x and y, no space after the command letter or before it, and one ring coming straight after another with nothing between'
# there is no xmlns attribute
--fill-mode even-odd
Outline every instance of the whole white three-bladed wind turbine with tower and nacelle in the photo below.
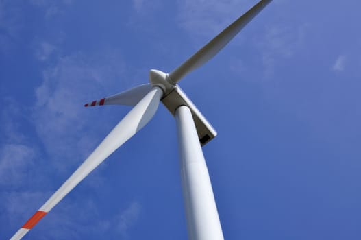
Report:
<svg viewBox="0 0 361 240"><path fill-rule="evenodd" d="M216 131L192 101L186 97L177 82L212 59L270 2L271 0L259 1L171 73L152 69L149 73L149 84L136 86L123 93L85 104L86 107L121 104L134 106L134 108L11 239L21 239L105 158L142 129L155 114L160 101L177 121L188 238L223 239L210 177L201 149L202 145L216 136Z"/></svg>

